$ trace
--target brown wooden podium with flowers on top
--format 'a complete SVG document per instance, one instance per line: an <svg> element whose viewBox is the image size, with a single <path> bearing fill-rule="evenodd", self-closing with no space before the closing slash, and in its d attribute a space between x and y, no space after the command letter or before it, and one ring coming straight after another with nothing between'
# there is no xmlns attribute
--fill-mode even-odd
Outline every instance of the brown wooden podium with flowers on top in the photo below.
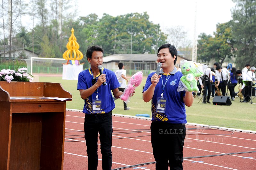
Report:
<svg viewBox="0 0 256 170"><path fill-rule="evenodd" d="M66 101L60 83L0 81L1 170L63 169Z"/></svg>

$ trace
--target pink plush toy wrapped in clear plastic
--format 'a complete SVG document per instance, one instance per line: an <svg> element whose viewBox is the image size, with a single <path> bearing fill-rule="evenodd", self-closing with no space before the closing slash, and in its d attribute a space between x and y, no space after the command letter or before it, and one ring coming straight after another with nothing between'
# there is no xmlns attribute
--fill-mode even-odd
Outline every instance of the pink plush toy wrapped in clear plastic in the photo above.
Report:
<svg viewBox="0 0 256 170"><path fill-rule="evenodd" d="M141 71L133 74L133 76L129 80L126 88L124 89L124 94L122 94L120 96L120 99L124 100L125 103L128 103L130 101L132 92L134 91L134 89L136 87L138 87L140 85L141 81L142 81L142 72Z"/></svg>

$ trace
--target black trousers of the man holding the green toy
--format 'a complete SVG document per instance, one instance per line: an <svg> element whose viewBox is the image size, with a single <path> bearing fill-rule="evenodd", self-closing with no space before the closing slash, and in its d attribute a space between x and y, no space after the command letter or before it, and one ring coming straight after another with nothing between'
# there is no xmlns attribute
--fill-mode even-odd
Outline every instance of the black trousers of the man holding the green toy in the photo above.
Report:
<svg viewBox="0 0 256 170"><path fill-rule="evenodd" d="M150 129L156 170L183 169L185 124L152 122Z"/></svg>

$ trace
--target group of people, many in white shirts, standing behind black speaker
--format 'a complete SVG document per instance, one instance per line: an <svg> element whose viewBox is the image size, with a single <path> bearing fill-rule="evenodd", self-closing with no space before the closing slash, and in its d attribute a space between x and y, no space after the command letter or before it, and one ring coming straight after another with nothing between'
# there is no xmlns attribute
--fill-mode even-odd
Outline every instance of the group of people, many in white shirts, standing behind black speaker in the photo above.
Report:
<svg viewBox="0 0 256 170"><path fill-rule="evenodd" d="M230 93L230 99L235 100L236 94L238 92L242 93L244 98L241 102L249 102L252 94L255 94L255 88L253 81L255 79L255 70L254 66L246 64L245 67L241 70L236 70L235 67L232 67L232 64L229 63L226 68L222 68L218 62L213 64L213 68L207 68L204 75L198 80L198 88L200 93L197 93L200 96L201 91L203 92L204 100L203 103L211 103L210 97L216 96L226 96L228 91ZM235 87L237 84L241 84L241 88L238 88L239 91L235 92ZM202 90L203 89L203 90ZM251 91L252 90L252 91Z"/></svg>

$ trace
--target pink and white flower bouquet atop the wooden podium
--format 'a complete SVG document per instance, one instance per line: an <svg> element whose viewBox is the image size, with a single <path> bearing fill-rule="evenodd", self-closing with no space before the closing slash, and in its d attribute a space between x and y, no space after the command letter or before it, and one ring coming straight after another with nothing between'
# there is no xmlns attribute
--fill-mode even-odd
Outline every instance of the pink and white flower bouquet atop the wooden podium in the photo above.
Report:
<svg viewBox="0 0 256 170"><path fill-rule="evenodd" d="M0 81L32 81L34 76L27 73L27 68L23 67L16 70L3 69L0 72Z"/></svg>

